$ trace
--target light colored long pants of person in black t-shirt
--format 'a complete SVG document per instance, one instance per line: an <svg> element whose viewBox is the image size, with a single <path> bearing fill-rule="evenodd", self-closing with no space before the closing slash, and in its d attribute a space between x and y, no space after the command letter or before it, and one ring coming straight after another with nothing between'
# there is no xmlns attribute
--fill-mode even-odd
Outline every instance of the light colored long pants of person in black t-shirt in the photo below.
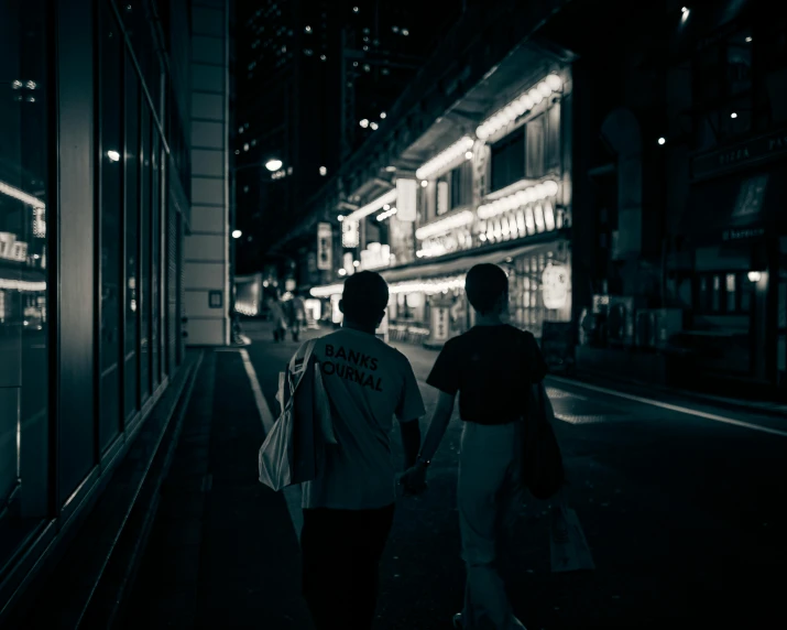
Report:
<svg viewBox="0 0 787 630"><path fill-rule="evenodd" d="M462 626L466 630L523 629L514 617L496 568L521 514L522 424L466 422L459 457L457 502L467 569Z"/></svg>

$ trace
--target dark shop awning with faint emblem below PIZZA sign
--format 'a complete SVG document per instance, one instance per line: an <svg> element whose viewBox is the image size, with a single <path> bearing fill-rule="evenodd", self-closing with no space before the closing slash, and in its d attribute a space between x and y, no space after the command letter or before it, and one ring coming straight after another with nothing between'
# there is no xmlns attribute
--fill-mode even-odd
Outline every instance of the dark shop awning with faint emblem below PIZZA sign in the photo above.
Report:
<svg viewBox="0 0 787 630"><path fill-rule="evenodd" d="M785 222L787 169L728 176L696 184L681 233L696 245L762 238Z"/></svg>

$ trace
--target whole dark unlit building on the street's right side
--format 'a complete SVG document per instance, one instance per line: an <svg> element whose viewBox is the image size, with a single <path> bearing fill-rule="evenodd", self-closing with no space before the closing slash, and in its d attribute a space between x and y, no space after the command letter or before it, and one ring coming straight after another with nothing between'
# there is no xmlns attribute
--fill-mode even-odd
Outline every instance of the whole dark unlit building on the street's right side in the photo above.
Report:
<svg viewBox="0 0 787 630"><path fill-rule="evenodd" d="M546 34L579 57L578 366L783 394L784 18L757 0L615 15L606 46L581 32L590 7Z"/></svg>

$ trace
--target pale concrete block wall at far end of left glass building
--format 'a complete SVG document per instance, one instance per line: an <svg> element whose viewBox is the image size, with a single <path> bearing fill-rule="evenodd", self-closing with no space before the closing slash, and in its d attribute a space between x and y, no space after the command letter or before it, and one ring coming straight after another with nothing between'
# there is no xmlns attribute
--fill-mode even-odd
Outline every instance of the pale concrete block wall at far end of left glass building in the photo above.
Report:
<svg viewBox="0 0 787 630"><path fill-rule="evenodd" d="M225 346L230 340L229 0L193 0L192 31L192 225L184 245L188 344Z"/></svg>

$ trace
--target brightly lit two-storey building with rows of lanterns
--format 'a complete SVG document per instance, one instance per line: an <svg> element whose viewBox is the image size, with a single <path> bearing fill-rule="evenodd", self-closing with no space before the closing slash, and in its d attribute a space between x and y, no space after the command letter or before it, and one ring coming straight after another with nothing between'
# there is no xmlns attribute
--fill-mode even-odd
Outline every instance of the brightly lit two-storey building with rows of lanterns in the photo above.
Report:
<svg viewBox="0 0 787 630"><path fill-rule="evenodd" d="M463 276L479 262L505 269L512 324L540 337L571 322L570 55L536 41L501 55L336 210L336 278L382 273L392 339L441 345L471 327ZM340 291L311 290L335 322Z"/></svg>

